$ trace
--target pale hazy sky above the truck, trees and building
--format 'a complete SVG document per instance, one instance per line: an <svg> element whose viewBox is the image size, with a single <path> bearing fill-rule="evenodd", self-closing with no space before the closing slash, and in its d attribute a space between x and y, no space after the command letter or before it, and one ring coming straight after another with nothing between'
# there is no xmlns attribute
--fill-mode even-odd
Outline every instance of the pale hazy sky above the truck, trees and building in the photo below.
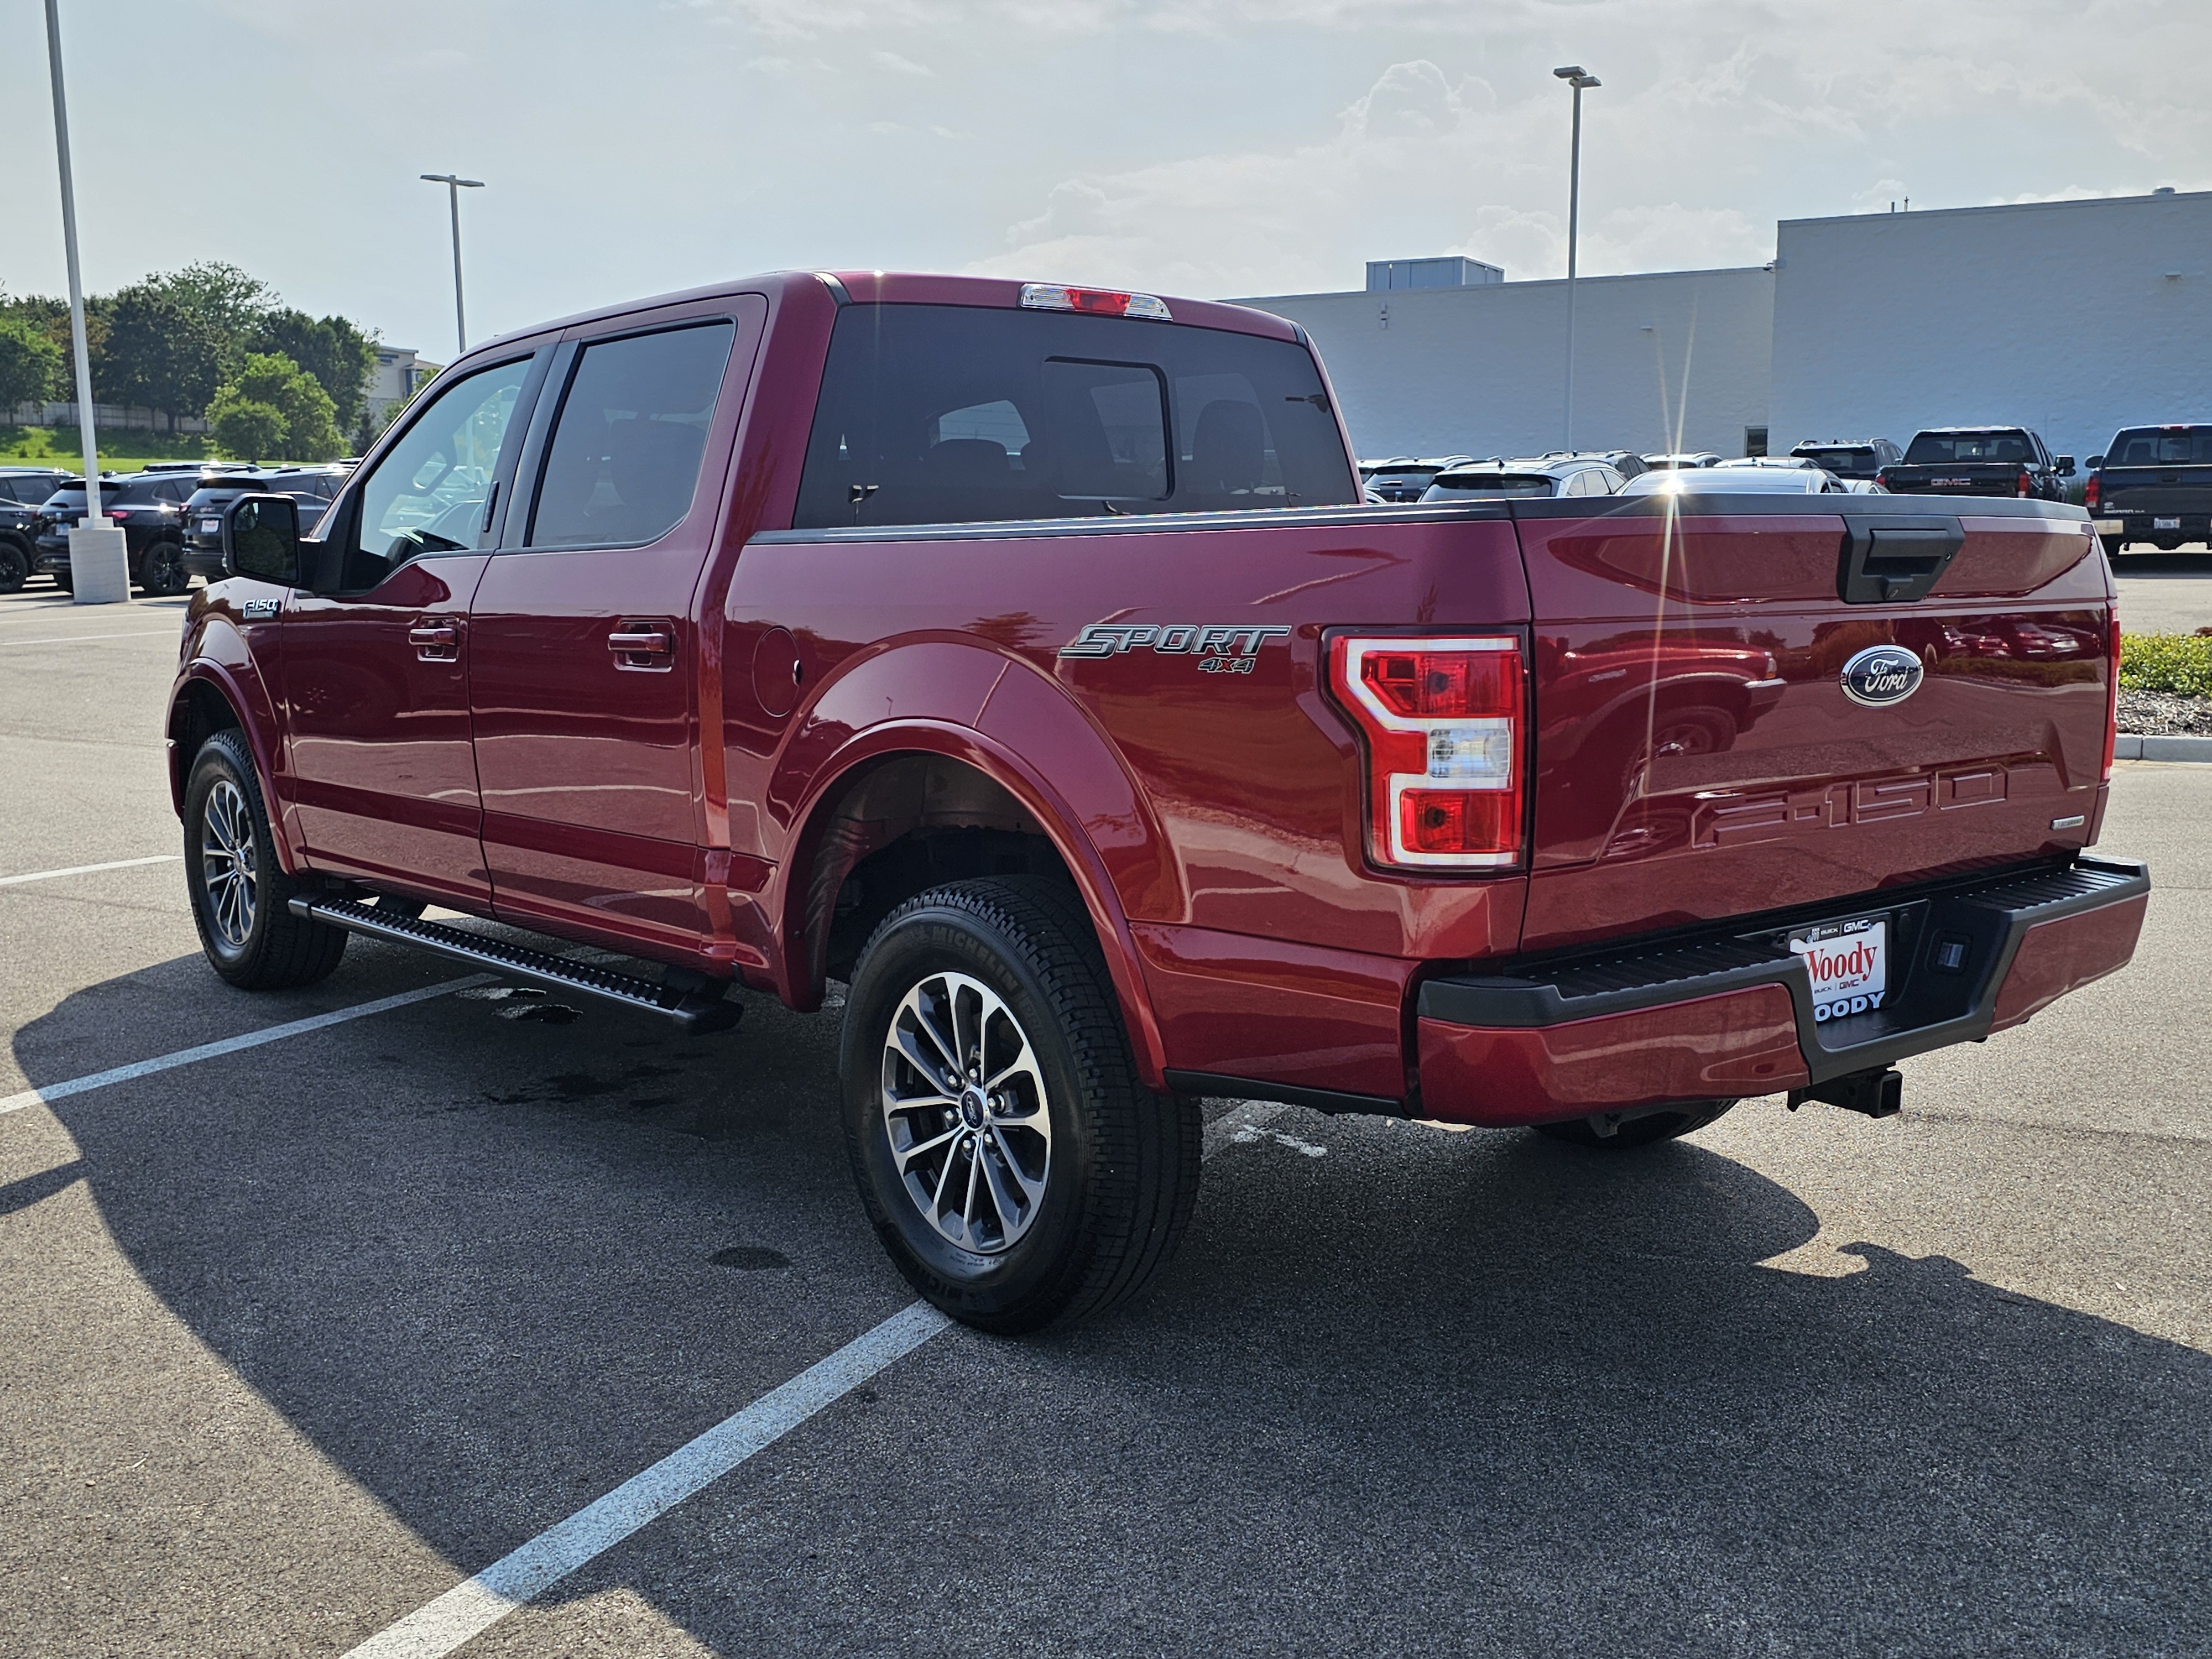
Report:
<svg viewBox="0 0 2212 1659"><path fill-rule="evenodd" d="M2208 0L60 0L84 279L243 265L434 361L776 268L1159 294L1763 263L1774 221L2212 186ZM40 0L0 290L64 292Z"/></svg>

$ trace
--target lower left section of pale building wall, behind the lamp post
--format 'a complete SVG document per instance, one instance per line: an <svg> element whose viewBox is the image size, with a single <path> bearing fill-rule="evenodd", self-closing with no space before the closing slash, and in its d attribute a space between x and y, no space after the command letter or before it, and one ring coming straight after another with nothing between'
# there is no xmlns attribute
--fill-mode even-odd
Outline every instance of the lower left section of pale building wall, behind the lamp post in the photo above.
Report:
<svg viewBox="0 0 2212 1659"><path fill-rule="evenodd" d="M1566 283L1243 299L1305 325L1360 456L1531 456L1566 438ZM1743 453L1767 425L1774 274L1575 283L1575 447ZM1683 387L1688 383L1688 396Z"/></svg>

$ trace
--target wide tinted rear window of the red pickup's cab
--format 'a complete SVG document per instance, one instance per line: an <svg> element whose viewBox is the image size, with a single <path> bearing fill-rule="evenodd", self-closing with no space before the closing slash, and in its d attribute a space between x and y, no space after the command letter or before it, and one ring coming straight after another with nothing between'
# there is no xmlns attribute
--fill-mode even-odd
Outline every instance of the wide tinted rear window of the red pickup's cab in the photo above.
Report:
<svg viewBox="0 0 2212 1659"><path fill-rule="evenodd" d="M1345 507L1312 354L1115 316L847 305L796 529Z"/></svg>

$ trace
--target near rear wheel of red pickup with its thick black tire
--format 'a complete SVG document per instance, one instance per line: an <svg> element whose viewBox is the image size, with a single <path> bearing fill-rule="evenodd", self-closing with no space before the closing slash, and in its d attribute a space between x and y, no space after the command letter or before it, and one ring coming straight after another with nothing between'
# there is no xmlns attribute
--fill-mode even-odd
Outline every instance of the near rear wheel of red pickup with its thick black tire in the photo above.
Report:
<svg viewBox="0 0 2212 1659"><path fill-rule="evenodd" d="M1029 1110L1002 1115L998 1097L982 1099L973 1075L931 1077L887 1053L894 1020L909 1020L911 1031L916 1011L931 1006L933 989L953 1002L982 998L982 991L1000 1000L1004 1018L989 1013L980 1042L991 1064L1026 1042L1033 1064L1024 1077L1042 1084L1042 1102L1015 1102L1018 1088L1033 1088L1018 1077L1004 1104ZM967 1026L951 1024L956 1048L964 1031L978 1029L973 1009L987 1004L969 1006ZM885 1079L894 1071L900 1093L942 1091L947 1110L887 1110ZM1199 1104L1155 1095L1137 1082L1091 916L1057 883L1035 876L960 880L894 909L852 978L841 1075L845 1148L876 1237L916 1292L967 1325L1011 1336L1097 1314L1135 1296L1181 1243L1199 1197ZM962 1106L953 1106L947 1082L969 1095ZM911 1148L907 1175L891 1146L894 1119ZM1048 1130L1042 1159L1040 1137L1024 1124ZM942 1161L931 1161L922 1148L940 1133L953 1141ZM1022 1179L1035 1179L1042 1190L1022 1217L1006 1219L989 1192L1026 1192L1006 1179L1015 1157L1026 1164ZM973 1221L962 1223L945 1217L936 1199L925 1212L907 1177L927 1186L931 1172L940 1194L967 1172L969 1192L984 1194L969 1203L987 1203L991 1217L978 1208ZM995 1188L982 1175L991 1175ZM958 1225L978 1248L964 1248L945 1225Z"/></svg>

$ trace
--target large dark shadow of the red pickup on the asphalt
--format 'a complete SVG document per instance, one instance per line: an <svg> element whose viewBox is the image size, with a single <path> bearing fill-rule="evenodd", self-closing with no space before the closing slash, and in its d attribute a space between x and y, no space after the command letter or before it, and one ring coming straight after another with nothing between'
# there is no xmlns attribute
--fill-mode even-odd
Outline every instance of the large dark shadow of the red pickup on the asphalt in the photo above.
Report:
<svg viewBox="0 0 2212 1659"><path fill-rule="evenodd" d="M834 1044L834 1013L761 1000L686 1046L445 998L62 1099L80 1161L0 1214L82 1177L186 1332L469 1573L905 1301ZM1763 1267L1814 1212L1697 1144L1274 1126L1327 1157L1217 1157L1148 1303L942 1338L549 1601L628 1588L719 1652L2154 1655L2212 1628L2208 1356L1940 1256ZM949 1396L1020 1433L947 1458ZM445 1588L392 1562L314 1564L372 1608L349 1639Z"/></svg>

